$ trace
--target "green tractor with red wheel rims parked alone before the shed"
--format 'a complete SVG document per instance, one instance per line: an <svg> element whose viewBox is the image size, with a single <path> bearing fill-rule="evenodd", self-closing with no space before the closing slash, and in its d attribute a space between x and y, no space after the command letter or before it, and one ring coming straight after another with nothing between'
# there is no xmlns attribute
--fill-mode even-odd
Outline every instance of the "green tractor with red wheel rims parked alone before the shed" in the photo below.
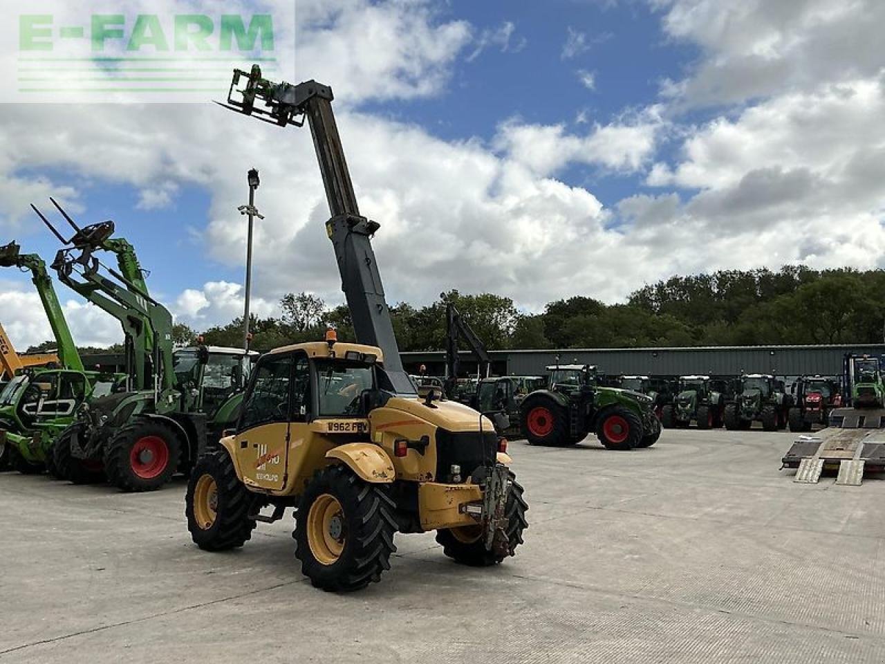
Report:
<svg viewBox="0 0 885 664"><path fill-rule="evenodd" d="M632 390L601 387L592 365L547 367L548 388L520 407L522 430L534 445L578 444L590 432L609 450L650 447L661 434L653 400Z"/></svg>

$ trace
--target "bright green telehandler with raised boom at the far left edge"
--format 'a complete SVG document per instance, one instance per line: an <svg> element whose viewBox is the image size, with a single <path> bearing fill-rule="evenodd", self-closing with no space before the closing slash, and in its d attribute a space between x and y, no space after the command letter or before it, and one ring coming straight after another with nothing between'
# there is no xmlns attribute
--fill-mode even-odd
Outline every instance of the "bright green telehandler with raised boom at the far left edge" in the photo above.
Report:
<svg viewBox="0 0 885 664"><path fill-rule="evenodd" d="M18 267L31 273L43 312L57 344L58 368L19 371L0 392L0 462L8 457L24 474L56 475L52 445L92 395L110 392L119 376L85 371L73 343L65 314L58 303L46 264L36 254L23 254L17 243L0 247L0 267Z"/></svg>

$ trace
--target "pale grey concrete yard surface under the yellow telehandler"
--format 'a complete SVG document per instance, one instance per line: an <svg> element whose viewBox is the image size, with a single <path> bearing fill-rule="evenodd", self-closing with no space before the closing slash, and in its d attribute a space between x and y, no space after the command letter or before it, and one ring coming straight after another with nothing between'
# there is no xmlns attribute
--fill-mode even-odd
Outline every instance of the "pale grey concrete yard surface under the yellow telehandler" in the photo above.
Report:
<svg viewBox="0 0 885 664"><path fill-rule="evenodd" d="M885 661L885 483L792 482L789 433L511 444L526 544L487 569L397 536L381 583L312 588L290 514L199 551L150 494L0 474L0 662Z"/></svg>

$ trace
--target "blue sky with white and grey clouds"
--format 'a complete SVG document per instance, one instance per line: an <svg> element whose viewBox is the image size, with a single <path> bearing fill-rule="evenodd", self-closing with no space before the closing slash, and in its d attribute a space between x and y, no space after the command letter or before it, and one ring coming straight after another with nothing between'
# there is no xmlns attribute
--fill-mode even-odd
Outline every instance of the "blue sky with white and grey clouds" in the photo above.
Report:
<svg viewBox="0 0 885 664"><path fill-rule="evenodd" d="M390 304L454 288L538 312L672 274L880 267L883 20L875 0L297 0L273 75L334 89ZM342 302L308 128L211 104L226 88L190 104L0 104L0 243L50 261L58 242L28 204L55 196L81 223L115 221L176 320L225 323L242 313L237 206L254 166L252 311L301 290ZM13 343L50 338L27 275L6 272ZM58 291L79 344L119 342L115 321Z"/></svg>

